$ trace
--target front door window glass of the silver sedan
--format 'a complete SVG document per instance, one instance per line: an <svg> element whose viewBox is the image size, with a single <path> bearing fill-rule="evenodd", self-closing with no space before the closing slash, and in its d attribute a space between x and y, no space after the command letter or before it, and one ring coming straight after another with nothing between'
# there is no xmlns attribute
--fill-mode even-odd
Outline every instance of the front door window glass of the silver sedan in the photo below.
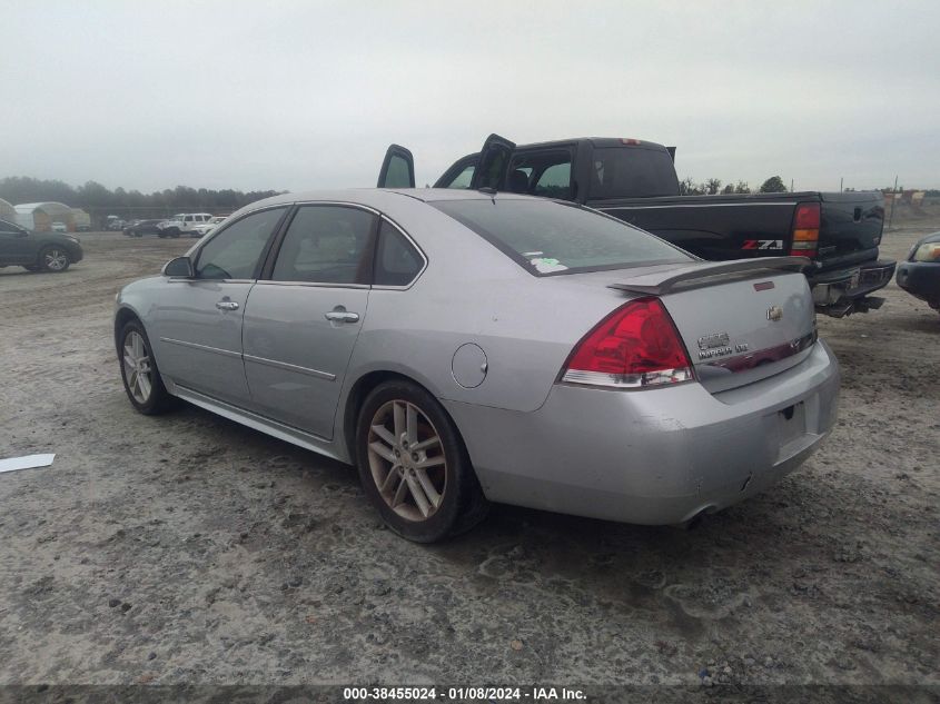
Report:
<svg viewBox="0 0 940 704"><path fill-rule="evenodd" d="M200 279L254 279L261 255L287 208L253 212L232 222L199 250L196 276Z"/></svg>

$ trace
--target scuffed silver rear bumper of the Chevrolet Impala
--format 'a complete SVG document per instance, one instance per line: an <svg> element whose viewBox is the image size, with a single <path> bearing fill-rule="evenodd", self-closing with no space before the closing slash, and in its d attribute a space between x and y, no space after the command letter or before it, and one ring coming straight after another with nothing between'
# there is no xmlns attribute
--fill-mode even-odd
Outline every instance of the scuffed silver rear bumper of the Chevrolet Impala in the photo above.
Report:
<svg viewBox="0 0 940 704"><path fill-rule="evenodd" d="M661 525L730 506L799 467L832 428L838 395L838 364L819 341L799 366L715 395L697 383L556 385L533 413L445 406L491 500Z"/></svg>

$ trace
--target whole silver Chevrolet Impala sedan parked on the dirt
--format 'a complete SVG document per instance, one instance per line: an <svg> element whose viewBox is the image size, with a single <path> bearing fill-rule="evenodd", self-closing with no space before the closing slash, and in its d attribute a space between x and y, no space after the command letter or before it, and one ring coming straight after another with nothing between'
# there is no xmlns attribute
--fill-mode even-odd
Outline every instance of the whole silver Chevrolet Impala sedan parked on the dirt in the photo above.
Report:
<svg viewBox="0 0 940 704"><path fill-rule="evenodd" d="M125 287L115 336L137 410L184 399L355 464L409 539L488 502L675 524L832 427L805 264L705 262L511 194L285 195Z"/></svg>

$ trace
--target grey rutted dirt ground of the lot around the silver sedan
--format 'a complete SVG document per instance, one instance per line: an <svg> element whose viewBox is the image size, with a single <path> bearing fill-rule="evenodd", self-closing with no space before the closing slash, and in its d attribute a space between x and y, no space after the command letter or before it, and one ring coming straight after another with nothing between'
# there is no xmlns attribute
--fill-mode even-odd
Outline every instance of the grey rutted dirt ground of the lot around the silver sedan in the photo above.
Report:
<svg viewBox="0 0 940 704"><path fill-rule="evenodd" d="M82 240L0 270L0 457L57 454L0 475L0 683L940 684L940 315L893 284L820 319L840 420L773 493L687 532L499 506L423 547L349 467L136 414L113 297L191 242Z"/></svg>

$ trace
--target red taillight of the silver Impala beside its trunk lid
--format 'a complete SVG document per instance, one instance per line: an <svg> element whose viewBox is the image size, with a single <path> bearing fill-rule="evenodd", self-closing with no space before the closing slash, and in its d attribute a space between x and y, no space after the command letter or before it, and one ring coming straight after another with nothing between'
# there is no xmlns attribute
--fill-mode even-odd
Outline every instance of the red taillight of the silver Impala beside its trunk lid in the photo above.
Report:
<svg viewBox="0 0 940 704"><path fill-rule="evenodd" d="M679 331L657 298L621 306L574 348L562 381L641 388L694 379Z"/></svg>

